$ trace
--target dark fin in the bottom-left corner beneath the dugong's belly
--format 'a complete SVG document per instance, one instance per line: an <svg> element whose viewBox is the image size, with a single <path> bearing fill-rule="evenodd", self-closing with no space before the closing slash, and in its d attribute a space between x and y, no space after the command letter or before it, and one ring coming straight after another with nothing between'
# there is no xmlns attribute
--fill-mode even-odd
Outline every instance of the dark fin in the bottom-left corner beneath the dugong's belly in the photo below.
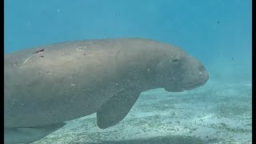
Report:
<svg viewBox="0 0 256 144"><path fill-rule="evenodd" d="M35 142L46 137L46 135L54 132L55 130L58 130L64 125L66 125L65 122L50 126L5 128L4 143L12 144Z"/></svg>

